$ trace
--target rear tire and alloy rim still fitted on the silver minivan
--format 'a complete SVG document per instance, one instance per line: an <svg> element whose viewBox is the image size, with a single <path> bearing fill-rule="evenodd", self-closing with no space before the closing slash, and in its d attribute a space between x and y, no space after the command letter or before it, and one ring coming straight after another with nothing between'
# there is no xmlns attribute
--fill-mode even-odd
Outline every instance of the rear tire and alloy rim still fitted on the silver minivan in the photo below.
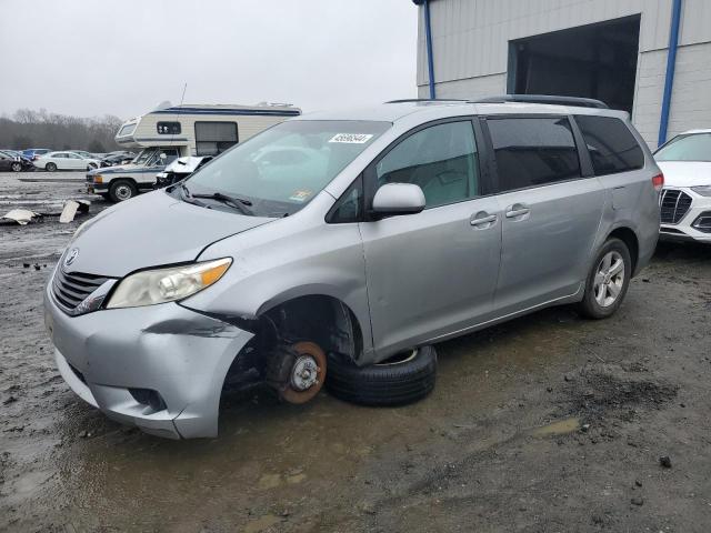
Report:
<svg viewBox="0 0 711 533"><path fill-rule="evenodd" d="M607 278L608 286L610 286L610 284L615 284L615 288L613 289L614 291L617 291L617 295L614 296L614 299L610 303L607 303L607 300L613 296L613 292L611 292L610 289L605 289L604 286L600 288L598 285L598 281L605 280L605 276L601 275L601 271L605 270L604 261L605 258L610 255L612 255L613 258L611 266L614 266L614 264L617 264L614 262L615 260L622 260L623 264L620 272L623 274L623 278L619 283L614 283L614 276L612 278L612 282L610 282L609 278ZM585 293L582 301L579 302L577 306L578 312L583 316L594 320L612 316L624 300L627 290L630 286L631 278L632 258L630 257L630 250L627 248L627 244L620 239L608 239L595 255L594 261L592 262L592 266L590 268L590 272L588 273L588 279L585 280ZM598 288L595 285L598 285ZM605 304L601 304L600 300L602 300L602 303Z"/></svg>

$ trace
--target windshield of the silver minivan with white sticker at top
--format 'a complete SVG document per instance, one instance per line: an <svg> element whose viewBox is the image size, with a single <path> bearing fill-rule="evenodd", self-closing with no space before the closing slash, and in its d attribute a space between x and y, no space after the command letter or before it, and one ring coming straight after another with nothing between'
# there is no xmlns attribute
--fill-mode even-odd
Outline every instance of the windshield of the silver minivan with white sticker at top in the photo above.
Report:
<svg viewBox="0 0 711 533"><path fill-rule="evenodd" d="M250 202L259 217L292 214L378 139L389 122L294 120L226 151L188 178L191 194Z"/></svg>

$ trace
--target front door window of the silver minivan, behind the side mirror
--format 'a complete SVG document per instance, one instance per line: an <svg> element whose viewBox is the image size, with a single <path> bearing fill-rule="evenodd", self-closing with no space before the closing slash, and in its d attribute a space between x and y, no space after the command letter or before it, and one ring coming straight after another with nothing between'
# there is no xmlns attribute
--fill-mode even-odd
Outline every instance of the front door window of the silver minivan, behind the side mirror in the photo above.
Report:
<svg viewBox="0 0 711 533"><path fill-rule="evenodd" d="M414 183L427 208L479 194L479 161L470 121L447 122L411 134L380 160L378 184Z"/></svg>

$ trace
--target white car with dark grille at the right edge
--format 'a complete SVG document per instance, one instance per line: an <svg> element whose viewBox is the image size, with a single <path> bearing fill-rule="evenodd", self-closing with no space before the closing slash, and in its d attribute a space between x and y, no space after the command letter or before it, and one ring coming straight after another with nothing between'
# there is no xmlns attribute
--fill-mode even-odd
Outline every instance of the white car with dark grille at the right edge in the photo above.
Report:
<svg viewBox="0 0 711 533"><path fill-rule="evenodd" d="M711 130L691 130L654 152L664 172L660 237L711 243Z"/></svg>

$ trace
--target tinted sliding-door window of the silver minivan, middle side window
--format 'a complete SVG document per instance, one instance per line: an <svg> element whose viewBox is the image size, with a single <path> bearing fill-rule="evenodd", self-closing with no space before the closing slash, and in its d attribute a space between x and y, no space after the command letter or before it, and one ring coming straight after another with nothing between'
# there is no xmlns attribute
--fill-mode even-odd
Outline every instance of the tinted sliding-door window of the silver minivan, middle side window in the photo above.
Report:
<svg viewBox="0 0 711 533"><path fill-rule="evenodd" d="M580 178L580 158L567 118L487 120L499 192Z"/></svg>

